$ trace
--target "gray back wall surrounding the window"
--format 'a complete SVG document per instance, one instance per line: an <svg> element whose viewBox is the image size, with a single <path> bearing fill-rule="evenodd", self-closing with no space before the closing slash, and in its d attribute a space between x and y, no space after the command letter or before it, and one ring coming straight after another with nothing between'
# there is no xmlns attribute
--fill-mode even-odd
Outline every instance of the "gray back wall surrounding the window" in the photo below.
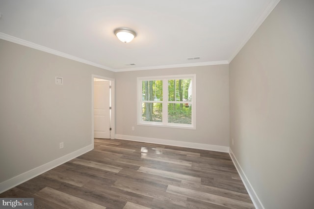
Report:
<svg viewBox="0 0 314 209"><path fill-rule="evenodd" d="M181 74L196 74L196 130L137 126L136 78ZM229 146L229 66L116 73L116 129L122 135Z"/></svg>

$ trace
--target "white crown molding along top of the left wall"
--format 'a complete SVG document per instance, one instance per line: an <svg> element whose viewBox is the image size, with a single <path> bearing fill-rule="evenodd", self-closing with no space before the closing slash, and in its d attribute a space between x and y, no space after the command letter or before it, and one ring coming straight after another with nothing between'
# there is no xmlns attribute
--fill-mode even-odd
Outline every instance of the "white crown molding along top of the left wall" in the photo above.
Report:
<svg viewBox="0 0 314 209"><path fill-rule="evenodd" d="M23 46L26 46L26 47L29 47L29 48L32 48L32 49L39 50L39 51L51 53L51 54L54 54L54 55L57 55L57 56L65 57L67 59L72 59L72 60L75 60L75 61L87 64L87 65L99 67L99 68L102 68L102 69L105 69L105 70L109 70L109 71L114 71L114 69L112 69L110 67L107 67L107 66L95 63L95 62L91 62L91 61L88 61L88 60L85 60L85 59L82 59L82 58L79 58L79 57L76 57L76 56L73 56L73 55L70 55L70 54L67 54L67 53L64 53L64 52L59 52L59 51L50 49L48 47L44 47L44 46L41 46L39 44L35 44L35 43L29 42L29 41L26 41L26 40L23 40L23 39L20 39L20 38L17 38L17 37L14 37L14 36L11 36L11 35L8 35L8 34L5 34L5 33L1 33L0 32L0 39L6 40L6 41L10 41L10 42L13 42L13 43L16 43L16 44L20 44L20 45L23 45Z"/></svg>

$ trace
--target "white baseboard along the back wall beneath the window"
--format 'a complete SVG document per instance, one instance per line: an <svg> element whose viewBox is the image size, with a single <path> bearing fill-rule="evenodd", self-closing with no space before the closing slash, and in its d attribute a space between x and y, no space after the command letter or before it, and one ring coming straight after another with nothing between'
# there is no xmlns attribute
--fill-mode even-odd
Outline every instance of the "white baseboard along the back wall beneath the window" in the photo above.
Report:
<svg viewBox="0 0 314 209"><path fill-rule="evenodd" d="M148 137L141 137L141 136L122 135L122 134L116 134L115 138L130 140L130 141L139 141L139 142L147 142L147 143L154 143L154 144L163 144L163 145L170 145L170 146L177 146L177 147L186 147L186 148L194 148L194 149L200 149L200 150L210 150L210 151L229 153L229 147L227 146L200 144L200 143L194 143L194 142L175 141L175 140L168 140L168 139L157 139L157 138L148 138Z"/></svg>

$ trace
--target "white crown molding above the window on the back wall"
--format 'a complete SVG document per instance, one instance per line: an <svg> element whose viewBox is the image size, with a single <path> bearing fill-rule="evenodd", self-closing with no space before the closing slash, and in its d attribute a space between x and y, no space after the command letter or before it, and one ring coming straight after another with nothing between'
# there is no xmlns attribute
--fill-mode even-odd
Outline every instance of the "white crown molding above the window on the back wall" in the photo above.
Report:
<svg viewBox="0 0 314 209"><path fill-rule="evenodd" d="M115 69L114 72L137 71L137 70L155 70L155 69L165 69L165 68L183 68L183 67L224 65L224 64L229 64L229 62L227 60L221 60L221 61L212 61L212 62L196 62L196 63L174 64L174 65L158 65L158 66L148 66L148 67L120 68L120 69Z"/></svg>

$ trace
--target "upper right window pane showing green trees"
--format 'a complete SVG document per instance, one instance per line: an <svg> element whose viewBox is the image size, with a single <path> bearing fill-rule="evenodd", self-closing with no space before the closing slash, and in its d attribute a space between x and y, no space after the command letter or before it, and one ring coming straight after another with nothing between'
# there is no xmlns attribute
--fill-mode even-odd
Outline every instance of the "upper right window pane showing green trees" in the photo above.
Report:
<svg viewBox="0 0 314 209"><path fill-rule="evenodd" d="M191 79L168 80L168 101L192 101Z"/></svg>

